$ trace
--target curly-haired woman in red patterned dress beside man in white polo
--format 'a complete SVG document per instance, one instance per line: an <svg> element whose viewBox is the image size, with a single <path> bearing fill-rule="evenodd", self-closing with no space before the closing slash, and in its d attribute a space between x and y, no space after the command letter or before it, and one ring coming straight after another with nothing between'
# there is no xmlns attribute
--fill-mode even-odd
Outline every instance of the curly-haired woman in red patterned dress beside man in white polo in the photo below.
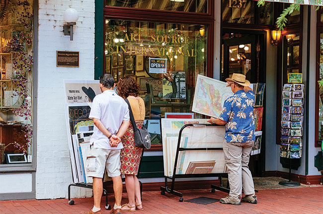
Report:
<svg viewBox="0 0 323 214"><path fill-rule="evenodd" d="M141 128L145 119L145 103L138 97L139 85L132 77L126 76L118 83L118 95L128 98L137 127ZM144 210L141 202L140 184L137 178L142 148L135 146L134 129L132 124L121 138L123 149L120 152L120 172L125 174L128 204L122 205L124 211Z"/></svg>

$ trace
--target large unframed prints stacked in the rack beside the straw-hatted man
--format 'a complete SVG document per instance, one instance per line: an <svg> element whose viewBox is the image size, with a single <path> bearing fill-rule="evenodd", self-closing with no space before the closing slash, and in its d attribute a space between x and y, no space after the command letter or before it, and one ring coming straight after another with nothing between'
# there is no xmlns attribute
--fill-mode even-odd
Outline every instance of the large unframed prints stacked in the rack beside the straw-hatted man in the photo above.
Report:
<svg viewBox="0 0 323 214"><path fill-rule="evenodd" d="M205 124L207 119L161 119L164 175L174 174L179 131L185 124ZM223 126L194 126L184 128L181 148L222 148ZM224 173L223 150L182 151L178 153L176 174Z"/></svg>

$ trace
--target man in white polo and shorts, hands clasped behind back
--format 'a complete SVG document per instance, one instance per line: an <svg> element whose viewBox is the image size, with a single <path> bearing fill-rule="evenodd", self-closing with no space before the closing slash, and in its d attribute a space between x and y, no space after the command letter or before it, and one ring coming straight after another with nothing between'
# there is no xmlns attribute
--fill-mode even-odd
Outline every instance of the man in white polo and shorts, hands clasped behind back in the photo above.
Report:
<svg viewBox="0 0 323 214"><path fill-rule="evenodd" d="M93 177L94 206L86 214L101 214L102 177L105 167L113 181L115 204L111 214L121 214L120 150L123 146L120 138L127 131L130 118L127 103L113 91L114 87L114 79L110 74L100 77L102 94L93 99L89 115L95 126L86 159L86 170L87 175Z"/></svg>

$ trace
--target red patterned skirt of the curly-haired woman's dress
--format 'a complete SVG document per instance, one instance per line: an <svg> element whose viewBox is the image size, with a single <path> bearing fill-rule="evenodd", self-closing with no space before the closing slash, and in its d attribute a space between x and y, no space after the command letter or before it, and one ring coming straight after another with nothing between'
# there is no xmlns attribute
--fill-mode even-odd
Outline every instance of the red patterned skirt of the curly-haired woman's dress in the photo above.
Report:
<svg viewBox="0 0 323 214"><path fill-rule="evenodd" d="M141 128L144 120L136 120L137 127ZM143 148L135 146L134 129L130 123L127 132L121 138L123 149L120 152L121 174L138 173L139 162Z"/></svg>

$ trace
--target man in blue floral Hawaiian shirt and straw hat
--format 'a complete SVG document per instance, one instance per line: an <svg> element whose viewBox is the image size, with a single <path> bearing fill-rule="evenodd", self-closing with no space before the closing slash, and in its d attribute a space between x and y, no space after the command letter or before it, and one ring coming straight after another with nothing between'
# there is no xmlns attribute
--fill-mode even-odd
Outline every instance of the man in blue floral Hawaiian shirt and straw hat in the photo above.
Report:
<svg viewBox="0 0 323 214"><path fill-rule="evenodd" d="M253 103L254 93L248 86L250 82L243 74L234 73L226 79L234 95L223 105L219 118L211 117L208 122L226 124L226 141L223 151L228 168L230 194L220 200L223 204L240 205L242 201L257 203L254 194L252 175L248 167L251 149L254 143Z"/></svg>

